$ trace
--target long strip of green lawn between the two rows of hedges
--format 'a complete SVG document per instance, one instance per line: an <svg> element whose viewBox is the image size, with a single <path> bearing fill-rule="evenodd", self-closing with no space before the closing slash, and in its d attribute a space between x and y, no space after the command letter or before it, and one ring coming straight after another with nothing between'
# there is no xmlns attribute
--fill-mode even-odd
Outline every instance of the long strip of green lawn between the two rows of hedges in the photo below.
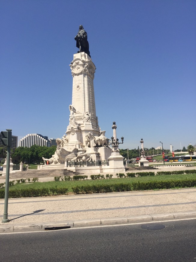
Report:
<svg viewBox="0 0 196 262"><path fill-rule="evenodd" d="M72 192L72 187L86 186L86 185L106 185L113 183L132 183L132 182L147 182L147 181L165 181L165 180L179 180L185 178L196 178L196 174L186 175L166 175L166 176L143 176L143 177L130 177L130 178L113 178L113 179L96 179L96 180L76 180L76 181L49 181L49 182L30 182L15 184L10 189L23 189L23 188L50 188L50 187L67 187L68 192Z"/></svg>

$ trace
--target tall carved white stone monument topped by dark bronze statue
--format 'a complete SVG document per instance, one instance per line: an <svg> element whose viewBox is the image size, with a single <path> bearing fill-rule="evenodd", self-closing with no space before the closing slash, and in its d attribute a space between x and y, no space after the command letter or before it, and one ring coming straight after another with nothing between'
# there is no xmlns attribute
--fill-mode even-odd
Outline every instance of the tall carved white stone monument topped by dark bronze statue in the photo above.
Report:
<svg viewBox="0 0 196 262"><path fill-rule="evenodd" d="M82 25L75 40L79 51L70 64L73 86L69 125L66 135L57 139L57 150L49 159L50 164L64 164L65 160L106 160L111 155L105 131L101 131L96 116L93 86L96 67L91 60L87 33Z"/></svg>

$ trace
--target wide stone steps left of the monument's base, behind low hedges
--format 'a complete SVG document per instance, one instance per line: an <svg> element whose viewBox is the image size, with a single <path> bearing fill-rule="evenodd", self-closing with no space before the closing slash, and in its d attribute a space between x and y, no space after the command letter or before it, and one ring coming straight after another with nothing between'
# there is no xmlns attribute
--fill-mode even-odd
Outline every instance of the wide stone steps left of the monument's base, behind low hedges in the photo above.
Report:
<svg viewBox="0 0 196 262"><path fill-rule="evenodd" d="M80 173L73 172L66 169L54 169L54 170L28 170L10 174L10 179L19 178L33 178L33 177L54 177L54 176L73 176Z"/></svg>

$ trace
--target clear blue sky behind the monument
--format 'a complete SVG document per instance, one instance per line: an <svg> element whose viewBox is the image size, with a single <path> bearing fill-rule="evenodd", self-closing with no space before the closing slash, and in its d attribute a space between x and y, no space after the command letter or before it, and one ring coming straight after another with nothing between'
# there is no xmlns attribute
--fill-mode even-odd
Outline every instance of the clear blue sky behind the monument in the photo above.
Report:
<svg viewBox="0 0 196 262"><path fill-rule="evenodd" d="M62 137L80 24L88 34L99 125L120 148L196 144L196 1L1 0L0 129ZM0 130L0 131L1 131Z"/></svg>

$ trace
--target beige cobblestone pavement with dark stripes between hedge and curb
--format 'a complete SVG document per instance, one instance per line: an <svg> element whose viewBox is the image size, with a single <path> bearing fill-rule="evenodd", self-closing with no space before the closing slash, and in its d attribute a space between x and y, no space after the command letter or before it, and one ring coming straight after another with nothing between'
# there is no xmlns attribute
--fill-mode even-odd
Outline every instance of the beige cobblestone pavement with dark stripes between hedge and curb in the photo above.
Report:
<svg viewBox="0 0 196 262"><path fill-rule="evenodd" d="M196 210L196 188L10 198L9 224L123 217ZM0 200L0 219L4 199ZM0 224L1 223L0 220Z"/></svg>

